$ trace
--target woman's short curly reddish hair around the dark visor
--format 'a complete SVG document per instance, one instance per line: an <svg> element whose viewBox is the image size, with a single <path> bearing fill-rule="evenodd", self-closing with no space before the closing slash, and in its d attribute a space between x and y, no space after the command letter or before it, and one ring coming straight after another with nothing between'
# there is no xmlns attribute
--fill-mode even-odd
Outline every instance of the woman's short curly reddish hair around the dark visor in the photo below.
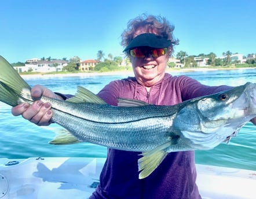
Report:
<svg viewBox="0 0 256 199"><path fill-rule="evenodd" d="M127 29L125 29L121 35L121 45L123 47L128 46L131 40L138 35L138 29L143 30L144 33L156 33L156 35L160 35L165 37L167 40L171 40L170 53L173 52L173 46L178 45L179 40L174 39L173 36L174 25L171 25L166 18L141 14L141 16L138 16L127 23Z"/></svg>

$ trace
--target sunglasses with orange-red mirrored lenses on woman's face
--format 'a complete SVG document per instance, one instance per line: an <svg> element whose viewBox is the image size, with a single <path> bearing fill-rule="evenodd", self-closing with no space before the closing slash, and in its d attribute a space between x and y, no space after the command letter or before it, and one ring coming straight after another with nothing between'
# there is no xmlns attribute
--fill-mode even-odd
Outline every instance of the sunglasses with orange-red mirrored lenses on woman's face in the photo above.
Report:
<svg viewBox="0 0 256 199"><path fill-rule="evenodd" d="M167 48L143 48L137 47L130 50L130 55L137 58L144 58L148 54L151 54L152 57L160 57L165 55L167 52Z"/></svg>

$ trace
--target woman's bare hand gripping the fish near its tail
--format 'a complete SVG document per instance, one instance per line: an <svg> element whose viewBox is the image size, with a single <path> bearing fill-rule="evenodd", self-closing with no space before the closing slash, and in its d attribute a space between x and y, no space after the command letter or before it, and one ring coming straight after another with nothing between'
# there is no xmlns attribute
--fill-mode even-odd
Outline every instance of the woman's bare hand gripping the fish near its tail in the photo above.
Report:
<svg viewBox="0 0 256 199"><path fill-rule="evenodd" d="M42 95L63 100L60 96L42 85L35 85L31 88L31 96L33 99L37 99ZM30 122L35 123L38 126L47 126L52 123L51 118L53 116L53 112L51 108L52 107L49 102L43 103L41 100L35 100L33 104L21 103L13 107L12 114L14 116L22 115L23 118L28 119Z"/></svg>

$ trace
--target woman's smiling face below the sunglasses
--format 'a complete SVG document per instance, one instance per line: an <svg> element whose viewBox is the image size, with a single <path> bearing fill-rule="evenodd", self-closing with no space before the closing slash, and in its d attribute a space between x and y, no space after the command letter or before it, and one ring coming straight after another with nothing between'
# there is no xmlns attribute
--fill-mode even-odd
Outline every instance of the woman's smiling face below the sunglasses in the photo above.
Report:
<svg viewBox="0 0 256 199"><path fill-rule="evenodd" d="M152 57L150 53L144 58L130 56L136 80L145 87L151 87L164 77L169 59L169 50L160 57Z"/></svg>

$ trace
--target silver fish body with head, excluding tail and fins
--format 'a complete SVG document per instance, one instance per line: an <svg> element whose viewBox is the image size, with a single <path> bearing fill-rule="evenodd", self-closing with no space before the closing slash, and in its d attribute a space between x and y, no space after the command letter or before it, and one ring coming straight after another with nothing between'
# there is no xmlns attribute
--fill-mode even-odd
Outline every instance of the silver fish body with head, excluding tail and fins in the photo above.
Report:
<svg viewBox="0 0 256 199"><path fill-rule="evenodd" d="M166 151L172 152L211 149L235 136L256 117L255 99L256 84L247 83L174 106L45 102L52 103L53 121L80 141L125 151L149 151L169 142Z"/></svg>

